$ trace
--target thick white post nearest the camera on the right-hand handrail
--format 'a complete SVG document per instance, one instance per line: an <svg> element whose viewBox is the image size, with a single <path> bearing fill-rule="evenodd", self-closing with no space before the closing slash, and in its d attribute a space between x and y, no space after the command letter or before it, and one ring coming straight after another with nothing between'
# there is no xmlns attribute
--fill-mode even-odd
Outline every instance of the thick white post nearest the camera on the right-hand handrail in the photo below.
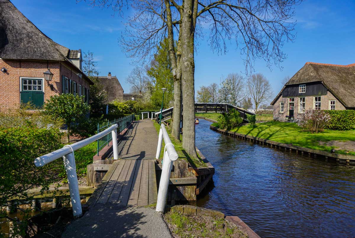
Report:
<svg viewBox="0 0 355 238"><path fill-rule="evenodd" d="M169 158L168 151L165 151L163 162L164 163L162 168L162 175L160 176L160 182L159 182L157 209L155 210L160 213L164 213L165 210L165 202L166 202L166 195L168 194L170 172L171 169L173 168L173 162Z"/></svg>

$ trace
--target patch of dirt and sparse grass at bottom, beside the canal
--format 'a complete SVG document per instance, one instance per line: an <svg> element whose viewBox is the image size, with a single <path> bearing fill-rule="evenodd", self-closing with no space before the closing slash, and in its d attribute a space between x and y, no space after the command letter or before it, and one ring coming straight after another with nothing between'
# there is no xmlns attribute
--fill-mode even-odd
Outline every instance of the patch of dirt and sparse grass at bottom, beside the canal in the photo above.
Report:
<svg viewBox="0 0 355 238"><path fill-rule="evenodd" d="M189 216L178 211L170 211L164 215L164 219L174 238L248 237L239 227L222 218Z"/></svg>

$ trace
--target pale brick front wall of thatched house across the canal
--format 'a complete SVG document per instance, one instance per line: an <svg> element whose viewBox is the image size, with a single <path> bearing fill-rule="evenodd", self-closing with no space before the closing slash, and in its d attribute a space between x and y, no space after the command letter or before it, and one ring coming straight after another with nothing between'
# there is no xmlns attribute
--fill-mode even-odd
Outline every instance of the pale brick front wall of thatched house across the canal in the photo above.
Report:
<svg viewBox="0 0 355 238"><path fill-rule="evenodd" d="M307 96L306 98L306 110L313 109L313 98L314 96ZM327 95L321 96L321 109L329 109L329 100L335 100L335 110L345 110L345 107L340 103L334 95L327 91ZM280 113L280 102L284 102L284 113ZM300 114L299 112L299 97L295 97L295 108L294 108L294 118L297 118ZM285 121L286 116L289 115L289 98L283 98L282 96L274 104L274 120Z"/></svg>

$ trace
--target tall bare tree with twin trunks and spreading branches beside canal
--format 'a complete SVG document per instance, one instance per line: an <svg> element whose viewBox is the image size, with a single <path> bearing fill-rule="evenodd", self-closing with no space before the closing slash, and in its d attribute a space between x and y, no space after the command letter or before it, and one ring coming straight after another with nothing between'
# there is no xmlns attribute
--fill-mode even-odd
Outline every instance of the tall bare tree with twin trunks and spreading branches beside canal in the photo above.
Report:
<svg viewBox="0 0 355 238"><path fill-rule="evenodd" d="M256 58L267 66L286 58L281 50L285 41L293 41L294 6L302 0L88 0L92 5L120 11L132 8L122 36L129 56L149 57L165 37L168 38L174 75L173 136L178 136L180 92L184 105L182 147L192 157L195 150L195 38L209 26L209 45L213 51L226 52L226 41L235 39L244 58L246 72L253 70ZM174 40L178 41L176 50ZM181 91L180 91L181 87Z"/></svg>

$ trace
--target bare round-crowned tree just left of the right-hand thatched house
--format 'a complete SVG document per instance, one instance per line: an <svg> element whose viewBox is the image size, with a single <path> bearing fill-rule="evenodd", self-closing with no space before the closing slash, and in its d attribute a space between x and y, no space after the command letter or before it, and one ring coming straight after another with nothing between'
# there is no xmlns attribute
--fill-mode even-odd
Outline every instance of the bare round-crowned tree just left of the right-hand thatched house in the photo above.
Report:
<svg viewBox="0 0 355 238"><path fill-rule="evenodd" d="M249 77L247 87L255 104L255 112L261 103L267 102L273 95L269 81L260 73Z"/></svg>

